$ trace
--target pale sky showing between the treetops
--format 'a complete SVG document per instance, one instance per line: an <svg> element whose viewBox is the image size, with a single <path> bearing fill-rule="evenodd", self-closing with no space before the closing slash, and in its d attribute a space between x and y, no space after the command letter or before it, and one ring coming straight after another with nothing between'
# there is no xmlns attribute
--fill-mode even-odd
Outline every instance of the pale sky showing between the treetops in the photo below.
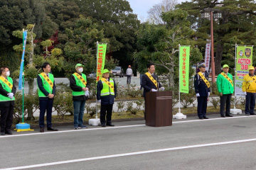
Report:
<svg viewBox="0 0 256 170"><path fill-rule="evenodd" d="M162 0L127 0L133 10L133 13L138 14L138 19L146 21L148 18L147 11L154 5L159 4ZM186 0L178 0L178 3ZM187 0L188 1L188 0Z"/></svg>

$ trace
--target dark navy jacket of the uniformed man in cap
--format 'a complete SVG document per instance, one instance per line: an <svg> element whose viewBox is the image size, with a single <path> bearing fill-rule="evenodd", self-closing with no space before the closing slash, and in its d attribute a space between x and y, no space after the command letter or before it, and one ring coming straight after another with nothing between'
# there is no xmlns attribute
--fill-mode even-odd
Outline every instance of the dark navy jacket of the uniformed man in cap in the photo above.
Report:
<svg viewBox="0 0 256 170"><path fill-rule="evenodd" d="M204 73L206 79L208 80L208 74ZM206 86L206 83L201 79L201 77L196 74L194 79L194 87L196 94L199 94L200 96L208 96L208 92L210 92L210 88Z"/></svg>

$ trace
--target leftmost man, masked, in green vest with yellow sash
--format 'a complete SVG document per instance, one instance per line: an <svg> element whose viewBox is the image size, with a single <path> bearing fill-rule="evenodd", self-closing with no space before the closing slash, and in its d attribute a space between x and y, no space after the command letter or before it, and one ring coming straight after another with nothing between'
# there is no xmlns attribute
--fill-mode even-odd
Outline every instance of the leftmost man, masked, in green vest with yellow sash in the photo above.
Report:
<svg viewBox="0 0 256 170"><path fill-rule="evenodd" d="M8 67L0 68L0 111L1 111L1 135L12 135L11 124L14 114L14 95L16 86L11 79Z"/></svg>

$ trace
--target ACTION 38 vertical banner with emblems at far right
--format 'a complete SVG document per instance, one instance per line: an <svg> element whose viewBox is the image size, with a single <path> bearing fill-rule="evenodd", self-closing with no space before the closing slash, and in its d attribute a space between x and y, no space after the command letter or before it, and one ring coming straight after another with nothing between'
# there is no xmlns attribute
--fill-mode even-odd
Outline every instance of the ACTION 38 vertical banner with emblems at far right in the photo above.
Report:
<svg viewBox="0 0 256 170"><path fill-rule="evenodd" d="M242 80L249 74L248 68L252 66L252 47L237 46L236 52L235 96L245 96L242 92Z"/></svg>

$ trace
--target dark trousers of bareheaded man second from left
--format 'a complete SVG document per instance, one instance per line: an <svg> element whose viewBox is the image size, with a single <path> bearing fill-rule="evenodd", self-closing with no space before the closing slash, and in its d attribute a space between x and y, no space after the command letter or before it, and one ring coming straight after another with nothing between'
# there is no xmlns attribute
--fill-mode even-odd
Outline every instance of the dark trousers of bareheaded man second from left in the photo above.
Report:
<svg viewBox="0 0 256 170"><path fill-rule="evenodd" d="M44 128L44 115L46 113L47 127L52 127L51 123L51 113L53 109L53 98L48 98L47 100L39 100L40 115L39 115L39 126Z"/></svg>

